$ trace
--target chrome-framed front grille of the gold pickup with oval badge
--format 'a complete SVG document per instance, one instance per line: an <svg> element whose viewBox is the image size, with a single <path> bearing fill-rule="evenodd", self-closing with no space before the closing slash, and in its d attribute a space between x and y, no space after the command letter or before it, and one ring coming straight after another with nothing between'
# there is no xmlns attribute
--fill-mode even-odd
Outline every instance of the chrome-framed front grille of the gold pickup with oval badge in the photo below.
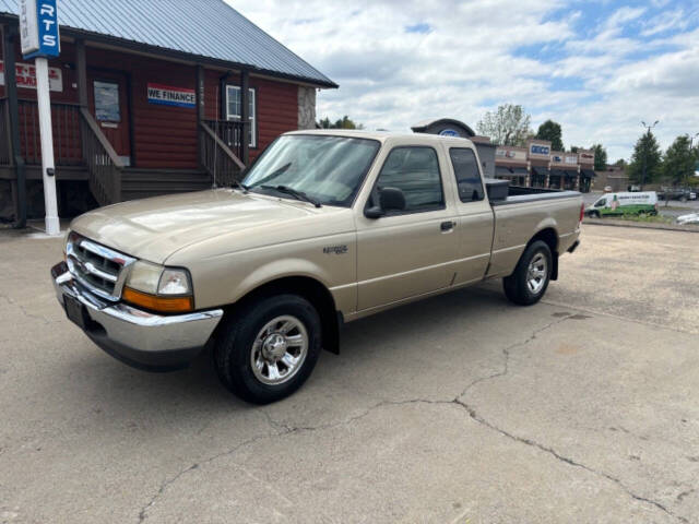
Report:
<svg viewBox="0 0 699 524"><path fill-rule="evenodd" d="M66 245L66 261L71 274L95 295L118 300L127 277L127 267L135 259L71 233Z"/></svg>

